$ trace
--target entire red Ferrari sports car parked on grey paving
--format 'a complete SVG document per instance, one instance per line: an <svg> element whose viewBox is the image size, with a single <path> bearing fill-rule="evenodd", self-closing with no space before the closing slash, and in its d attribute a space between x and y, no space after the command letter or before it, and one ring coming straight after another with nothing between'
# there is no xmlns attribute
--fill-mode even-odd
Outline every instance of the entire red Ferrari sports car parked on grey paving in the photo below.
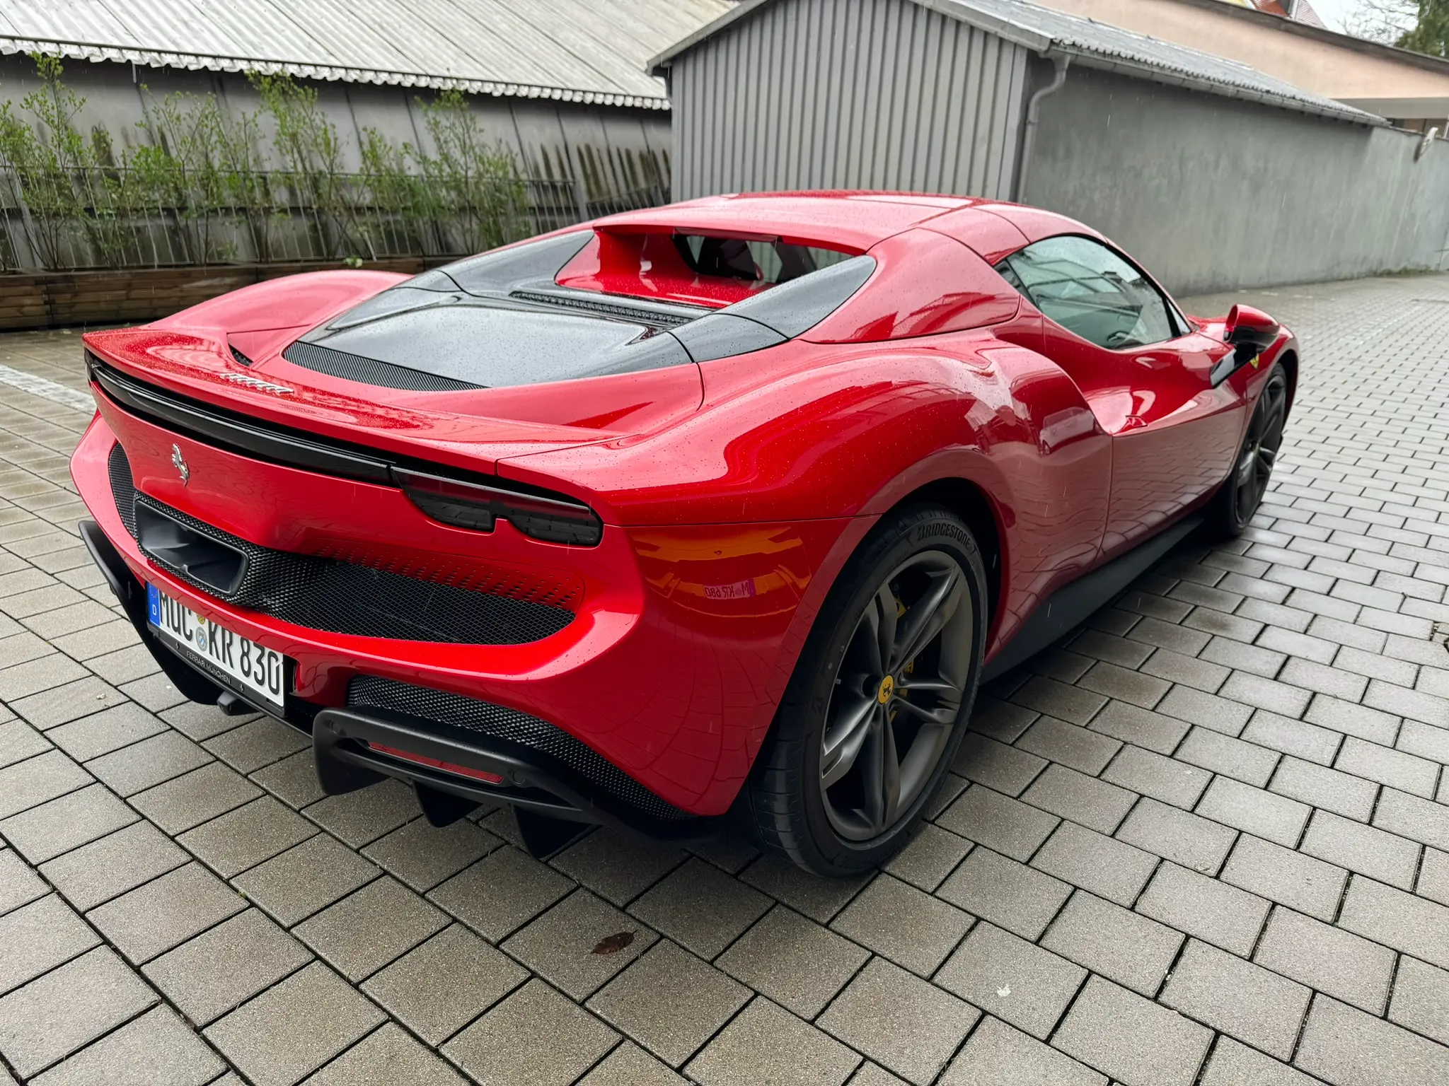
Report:
<svg viewBox="0 0 1449 1086"><path fill-rule="evenodd" d="M1081 223L898 193L630 211L85 348L81 530L184 694L436 824L732 815L826 875L906 840L984 678L1246 526L1298 369Z"/></svg>

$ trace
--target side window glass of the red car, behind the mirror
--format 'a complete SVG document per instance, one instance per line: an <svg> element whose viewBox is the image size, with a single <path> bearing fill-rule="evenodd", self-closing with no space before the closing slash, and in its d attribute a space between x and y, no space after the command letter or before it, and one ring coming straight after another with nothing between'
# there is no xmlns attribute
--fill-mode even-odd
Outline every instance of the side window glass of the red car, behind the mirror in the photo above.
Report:
<svg viewBox="0 0 1449 1086"><path fill-rule="evenodd" d="M1043 237L997 271L1051 320L1100 348L1124 350L1182 334L1156 287L1090 237Z"/></svg>

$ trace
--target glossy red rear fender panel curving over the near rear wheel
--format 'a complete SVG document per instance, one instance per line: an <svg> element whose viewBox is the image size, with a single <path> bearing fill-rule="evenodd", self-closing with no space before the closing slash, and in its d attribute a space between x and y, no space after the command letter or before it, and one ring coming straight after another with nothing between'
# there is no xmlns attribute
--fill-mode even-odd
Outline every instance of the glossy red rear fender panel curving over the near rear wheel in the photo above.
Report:
<svg viewBox="0 0 1449 1086"><path fill-rule="evenodd" d="M567 479L630 534L685 526L843 521L784 627L785 670L869 527L939 479L988 500L1003 550L993 650L1100 553L1110 439L1042 355L990 330L861 346L787 343L707 362L704 410L664 433L511 458L500 472ZM723 557L723 555L720 556ZM729 585L724 565L691 579ZM648 576L646 576L648 579ZM701 614L727 599L701 597ZM768 721L767 721L768 723Z"/></svg>

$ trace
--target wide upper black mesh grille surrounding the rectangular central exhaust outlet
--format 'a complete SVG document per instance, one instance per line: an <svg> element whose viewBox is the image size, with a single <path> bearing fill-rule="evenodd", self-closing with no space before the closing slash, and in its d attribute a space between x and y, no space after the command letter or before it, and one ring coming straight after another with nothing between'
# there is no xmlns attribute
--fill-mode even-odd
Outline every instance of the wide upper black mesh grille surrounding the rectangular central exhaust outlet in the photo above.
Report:
<svg viewBox="0 0 1449 1086"><path fill-rule="evenodd" d="M162 569L210 597L310 630L451 644L526 644L555 634L574 613L529 599L475 592L401 576L352 562L293 555L249 543L154 498L136 494L130 463L117 442L110 453L110 485L128 531L136 534L136 502L145 502L248 557L235 592L219 594L184 569L148 555Z"/></svg>

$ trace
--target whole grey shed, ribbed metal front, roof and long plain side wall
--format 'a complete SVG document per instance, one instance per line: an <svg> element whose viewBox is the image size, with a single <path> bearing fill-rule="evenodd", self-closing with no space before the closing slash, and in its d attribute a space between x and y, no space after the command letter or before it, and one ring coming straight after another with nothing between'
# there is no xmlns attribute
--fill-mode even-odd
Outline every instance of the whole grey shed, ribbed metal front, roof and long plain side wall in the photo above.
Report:
<svg viewBox="0 0 1449 1086"><path fill-rule="evenodd" d="M1026 0L748 0L651 70L674 103L675 198L1019 200L1103 230L1184 292L1446 258L1449 145Z"/></svg>

